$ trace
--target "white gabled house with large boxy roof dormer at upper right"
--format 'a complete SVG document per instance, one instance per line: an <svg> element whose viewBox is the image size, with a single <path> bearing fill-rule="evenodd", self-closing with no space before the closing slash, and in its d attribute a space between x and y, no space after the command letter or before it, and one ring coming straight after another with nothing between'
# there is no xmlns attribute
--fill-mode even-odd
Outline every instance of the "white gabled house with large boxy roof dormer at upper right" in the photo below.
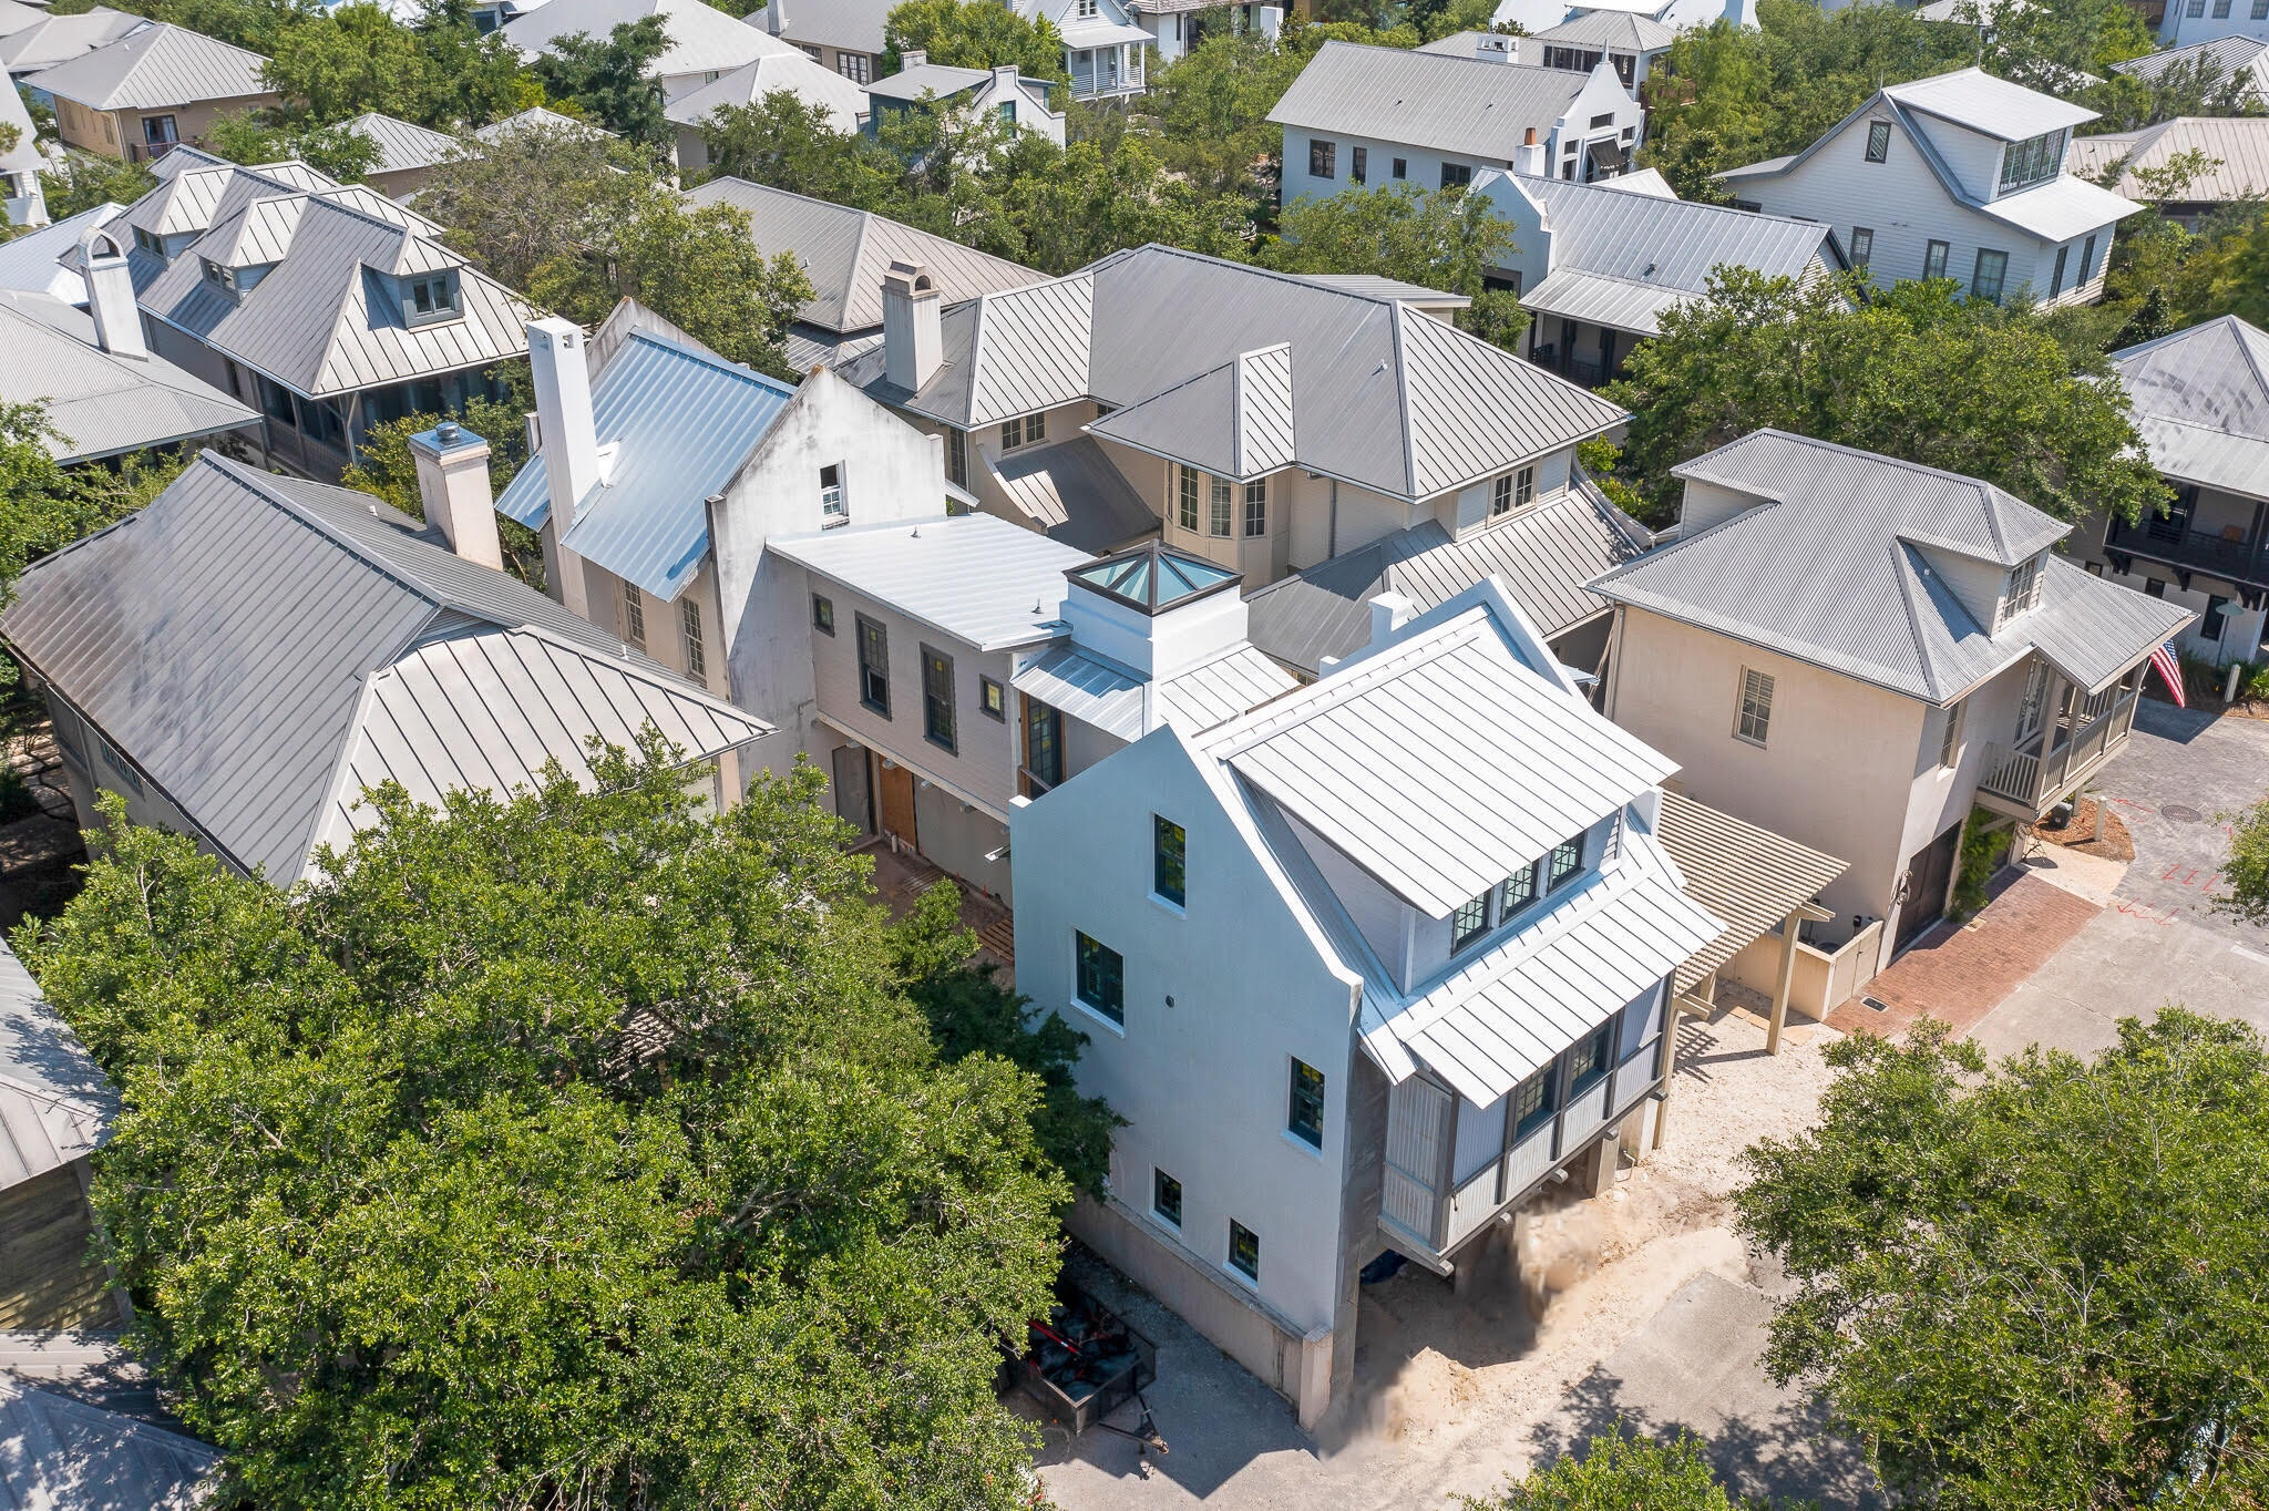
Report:
<svg viewBox="0 0 2269 1511"><path fill-rule="evenodd" d="M1979 68L1879 88L1793 157L1718 177L1743 209L1833 227L1876 288L1954 279L1994 304L2090 304L2135 204L2065 168L2094 111Z"/></svg>

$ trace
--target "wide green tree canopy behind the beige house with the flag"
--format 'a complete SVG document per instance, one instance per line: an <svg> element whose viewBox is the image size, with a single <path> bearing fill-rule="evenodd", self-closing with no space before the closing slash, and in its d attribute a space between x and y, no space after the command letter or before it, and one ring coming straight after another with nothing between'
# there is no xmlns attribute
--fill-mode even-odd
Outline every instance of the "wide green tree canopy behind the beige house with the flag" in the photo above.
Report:
<svg viewBox="0 0 2269 1511"><path fill-rule="evenodd" d="M1677 463L1763 427L1963 472L2058 520L2135 520L2167 497L2101 354L2074 365L2028 309L1949 281L1863 299L1858 279L1720 268L1602 392L1631 411L1620 476L1656 524L1677 513Z"/></svg>

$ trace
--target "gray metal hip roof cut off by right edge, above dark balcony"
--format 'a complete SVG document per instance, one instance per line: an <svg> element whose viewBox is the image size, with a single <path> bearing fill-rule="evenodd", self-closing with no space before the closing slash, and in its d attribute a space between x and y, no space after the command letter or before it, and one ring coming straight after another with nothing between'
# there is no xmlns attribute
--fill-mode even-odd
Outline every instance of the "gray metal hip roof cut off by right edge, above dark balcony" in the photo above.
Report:
<svg viewBox="0 0 2269 1511"><path fill-rule="evenodd" d="M2221 315L2112 352L2112 368L2153 467L2269 499L2269 331Z"/></svg>

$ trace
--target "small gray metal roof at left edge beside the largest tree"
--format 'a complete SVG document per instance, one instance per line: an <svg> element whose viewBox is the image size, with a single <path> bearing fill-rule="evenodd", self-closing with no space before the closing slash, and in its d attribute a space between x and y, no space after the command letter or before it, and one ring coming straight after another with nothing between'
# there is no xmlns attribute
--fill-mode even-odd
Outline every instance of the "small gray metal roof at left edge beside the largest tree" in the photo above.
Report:
<svg viewBox="0 0 2269 1511"><path fill-rule="evenodd" d="M91 1155L118 1087L0 939L0 1191Z"/></svg>

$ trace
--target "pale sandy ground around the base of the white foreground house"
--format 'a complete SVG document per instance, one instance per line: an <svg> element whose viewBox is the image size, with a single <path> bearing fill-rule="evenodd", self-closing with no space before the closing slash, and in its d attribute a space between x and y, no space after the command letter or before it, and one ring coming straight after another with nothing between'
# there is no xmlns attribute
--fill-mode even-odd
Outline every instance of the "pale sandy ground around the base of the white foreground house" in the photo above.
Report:
<svg viewBox="0 0 2269 1511"><path fill-rule="evenodd" d="M1731 994L1729 994L1731 996ZM1522 1214L1491 1257L1484 1282L1454 1295L1448 1282L1405 1268L1366 1286L1357 1325L1355 1400L1323 1423L1314 1441L1291 1427L1289 1409L1234 1364L1144 1298L1130 1298L1137 1325L1162 1336L1159 1384L1150 1391L1157 1427L1173 1452L1141 1477L1125 1438L1051 1434L1041 1475L1066 1511L1105 1506L1441 1506L1452 1495L1498 1488L1541 1457L1552 1457L1616 1416L1706 1427L1713 1411L1802 1427L1802 1402L1745 1377L1740 1400L1715 1400L1727 1366L1754 1366L1754 1316L1704 1329L1704 1357L1654 1366L1684 1375L1699 1400L1663 1395L1620 1409L1613 1357L1643 1334L1697 1277L1713 1277L1709 1305L1761 1316L1777 1277L1752 1264L1731 1230L1727 1193L1740 1184L1738 1155L1765 1137L1806 1128L1829 1082L1822 1048L1833 1030L1799 1028L1783 1053L1763 1053L1763 1028L1727 1010L1711 1023L1679 1028L1679 1075L1668 1139L1627 1168L1602 1198L1554 1196ZM1518 1255L1518 1264L1516 1264ZM1754 1305L1752 1305L1754 1302ZM1740 1354L1740 1357L1727 1357ZM1237 1388L1237 1377L1250 1391ZM1713 1384L1718 1382L1718 1384ZM1132 1418L1125 1409L1121 1416ZM1116 1420L1116 1418L1114 1418ZM1772 1461L1811 1463L1817 1445L1745 1445L1763 1468L1754 1488L1779 1484Z"/></svg>

